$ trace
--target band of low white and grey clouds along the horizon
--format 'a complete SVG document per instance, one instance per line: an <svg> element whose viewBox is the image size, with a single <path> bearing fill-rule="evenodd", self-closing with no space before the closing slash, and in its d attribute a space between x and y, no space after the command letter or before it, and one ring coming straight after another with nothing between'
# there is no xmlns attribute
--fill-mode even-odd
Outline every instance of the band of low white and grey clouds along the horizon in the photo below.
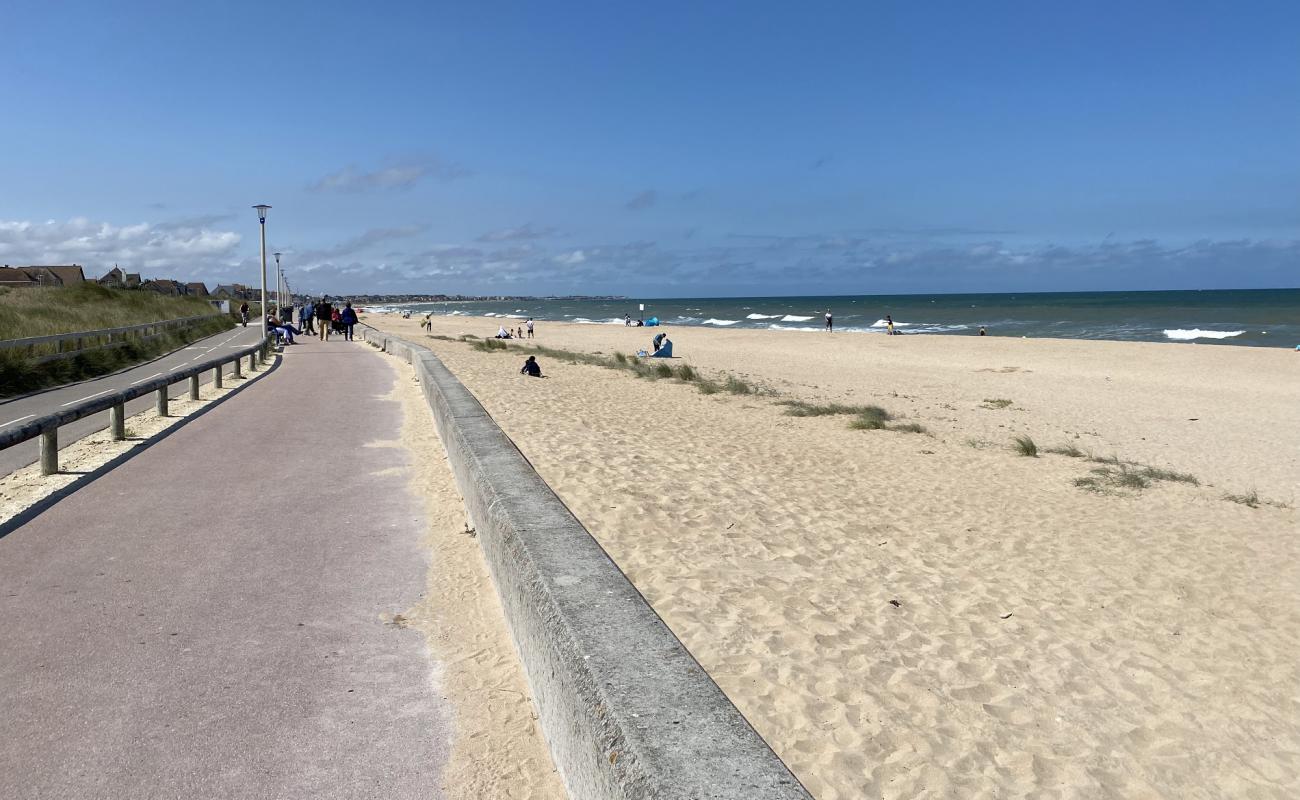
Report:
<svg viewBox="0 0 1300 800"><path fill-rule="evenodd" d="M146 277L255 284L229 215L114 225L0 220L0 263L114 264ZM706 241L569 241L532 222L464 242L429 225L372 228L333 245L278 246L291 282L329 294L638 294L656 297L1286 287L1300 239L1106 238L1019 242L950 228L846 234L725 234ZM274 248L274 247L273 247ZM1253 277L1242 286L1239 276Z"/></svg>

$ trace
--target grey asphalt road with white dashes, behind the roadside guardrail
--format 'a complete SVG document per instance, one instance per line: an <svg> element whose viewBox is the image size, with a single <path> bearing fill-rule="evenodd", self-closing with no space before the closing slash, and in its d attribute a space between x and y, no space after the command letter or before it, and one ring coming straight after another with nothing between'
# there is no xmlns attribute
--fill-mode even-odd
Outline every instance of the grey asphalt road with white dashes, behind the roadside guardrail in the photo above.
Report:
<svg viewBox="0 0 1300 800"><path fill-rule="evenodd" d="M170 353L152 362L131 367L130 369L125 369L122 372L105 375L103 377L82 381L79 384L56 386L53 389L17 399L0 401L0 429L34 416L52 414L58 411L61 406L69 406L78 401L99 397L100 394L107 394L109 392L120 392L135 382L157 377L169 369L176 369L194 362L202 362L207 358L212 358L221 350L238 350L239 347L247 347L248 345L256 343L261 338L260 333L261 329L256 325L248 325L247 328L240 325L234 330L224 330L209 336L205 340L194 342L183 350L177 350L176 353ZM233 372L233 367L226 367L225 373L229 375L230 372ZM200 377L200 382L212 382L212 375L204 373ZM188 386L185 381L182 381L173 385L169 394L172 397L181 397L186 392L188 392ZM136 414L152 407L153 398L142 397L126 405L126 414ZM64 425L58 429L58 445L65 447L74 441L84 436L90 436L96 431L103 431L107 427L108 411L77 420L75 423ZM35 463L38 458L40 458L39 440L31 440L9 447L8 450L0 450L0 475L8 475L14 470L21 470L27 464Z"/></svg>

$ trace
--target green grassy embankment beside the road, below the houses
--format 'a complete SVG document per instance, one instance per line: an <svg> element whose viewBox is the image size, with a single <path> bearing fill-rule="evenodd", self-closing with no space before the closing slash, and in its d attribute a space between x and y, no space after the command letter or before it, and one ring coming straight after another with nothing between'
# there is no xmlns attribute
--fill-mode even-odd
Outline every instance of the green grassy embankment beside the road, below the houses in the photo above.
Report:
<svg viewBox="0 0 1300 800"><path fill-rule="evenodd" d="M105 289L96 284L51 289L0 289L0 340L125 328L214 312L216 310L200 298ZM53 347L46 347L36 354L29 354L26 347L0 350L0 397L26 394L114 372L234 325L233 316L217 316L202 325L168 332L153 340L127 341L120 346L90 350L43 364L36 363L36 359L53 353Z"/></svg>

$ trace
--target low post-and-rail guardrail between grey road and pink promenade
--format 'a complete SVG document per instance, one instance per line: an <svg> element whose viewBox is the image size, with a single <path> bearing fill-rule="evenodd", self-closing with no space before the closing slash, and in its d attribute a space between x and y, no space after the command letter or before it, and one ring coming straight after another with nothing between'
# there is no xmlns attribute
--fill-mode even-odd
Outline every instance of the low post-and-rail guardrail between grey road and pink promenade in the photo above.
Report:
<svg viewBox="0 0 1300 800"><path fill-rule="evenodd" d="M66 425L68 423L74 423L82 418L90 416L91 414L99 414L101 411L108 411L108 427L112 429L113 440L122 441L126 438L126 403L138 398L144 397L152 392L157 399L155 408L159 416L168 415L168 403L170 398L168 395L168 388L172 384L179 382L182 380L190 380L190 399L199 399L199 376L208 369L213 371L212 385L217 389L221 388L221 368L229 363L234 363L234 376L240 377L239 362L247 356L248 358L248 371L257 371L257 360L263 363L266 362L270 354L270 337L265 337L261 342L256 345L250 345L238 353L226 353L224 355L209 358L202 364L195 364L192 367L181 367L156 377L150 381L144 381L135 386L127 386L120 392L112 394L105 394L95 397L91 399L82 401L75 406L64 408L61 411L55 411L44 416L38 416L32 420L25 421L21 425L14 425L5 431L0 431L0 450L5 450L14 445L20 445L25 441L40 437L40 473L53 475L58 472L58 428Z"/></svg>

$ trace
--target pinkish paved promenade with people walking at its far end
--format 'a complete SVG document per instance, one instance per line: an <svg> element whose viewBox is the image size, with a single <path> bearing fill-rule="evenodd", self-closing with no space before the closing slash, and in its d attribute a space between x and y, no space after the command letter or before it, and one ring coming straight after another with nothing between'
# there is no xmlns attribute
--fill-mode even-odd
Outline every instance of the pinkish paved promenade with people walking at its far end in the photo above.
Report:
<svg viewBox="0 0 1300 800"><path fill-rule="evenodd" d="M438 797L396 373L281 366L0 539L0 797Z"/></svg>

